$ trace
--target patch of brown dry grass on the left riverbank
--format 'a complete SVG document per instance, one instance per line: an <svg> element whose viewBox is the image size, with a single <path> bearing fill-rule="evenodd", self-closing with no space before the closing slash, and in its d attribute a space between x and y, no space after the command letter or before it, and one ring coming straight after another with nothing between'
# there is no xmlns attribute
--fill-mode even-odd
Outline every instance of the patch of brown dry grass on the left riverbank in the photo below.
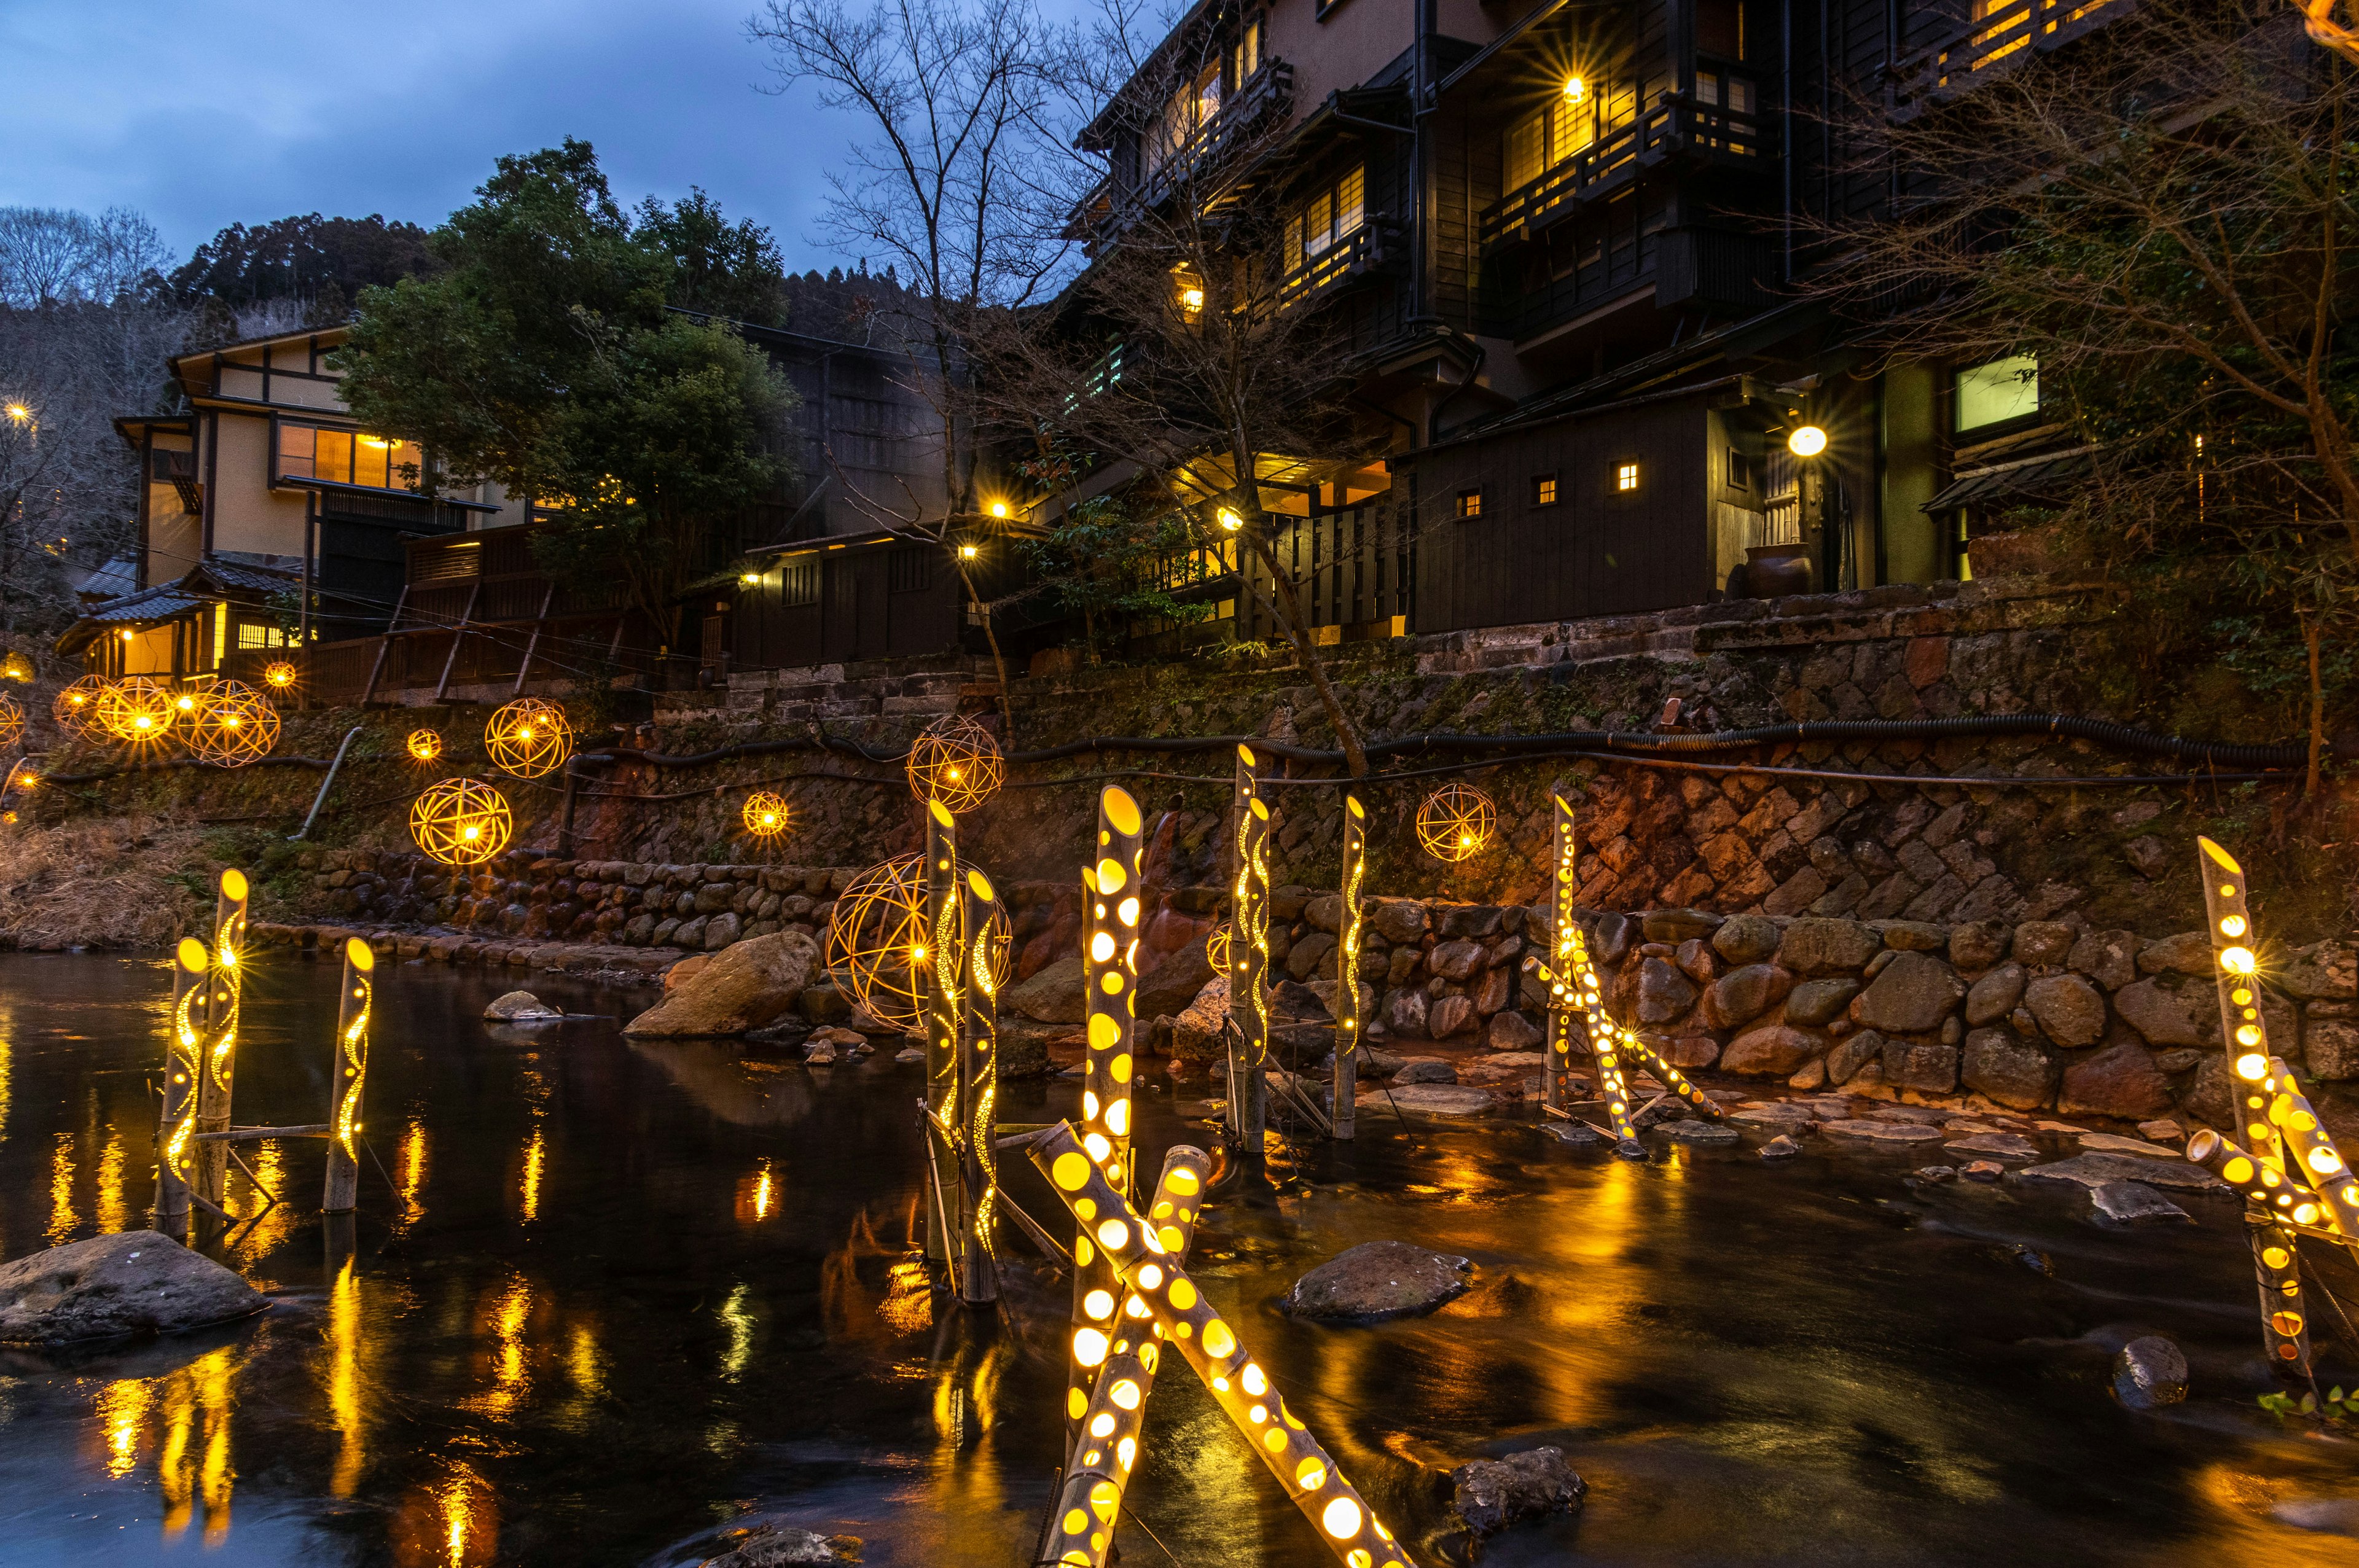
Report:
<svg viewBox="0 0 2359 1568"><path fill-rule="evenodd" d="M151 816L5 828L0 946L160 948L196 927L205 865L196 828Z"/></svg>

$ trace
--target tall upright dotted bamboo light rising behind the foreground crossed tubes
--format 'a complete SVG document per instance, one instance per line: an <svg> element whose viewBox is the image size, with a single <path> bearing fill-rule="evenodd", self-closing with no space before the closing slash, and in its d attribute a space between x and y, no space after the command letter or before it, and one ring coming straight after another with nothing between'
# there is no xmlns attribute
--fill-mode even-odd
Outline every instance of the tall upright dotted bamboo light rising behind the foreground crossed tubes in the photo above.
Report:
<svg viewBox="0 0 2359 1568"><path fill-rule="evenodd" d="M1097 792L1097 863L1080 870L1083 1035L1080 1146L1121 1191L1130 1191L1130 1035L1139 979L1139 856L1144 818L1121 785ZM1073 1441L1116 1302L1102 1257L1073 1259L1073 1332L1066 1339L1066 1443ZM1083 1346L1097 1346L1085 1356Z"/></svg>

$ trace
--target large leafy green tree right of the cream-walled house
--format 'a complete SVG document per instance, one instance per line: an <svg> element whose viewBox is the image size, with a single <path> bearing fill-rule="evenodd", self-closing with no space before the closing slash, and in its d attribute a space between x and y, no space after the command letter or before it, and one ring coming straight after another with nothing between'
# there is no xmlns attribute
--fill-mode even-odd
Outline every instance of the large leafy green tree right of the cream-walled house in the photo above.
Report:
<svg viewBox="0 0 2359 1568"><path fill-rule="evenodd" d="M587 141L500 158L432 252L436 271L361 292L354 415L458 483L552 505L535 561L620 582L675 641L686 582L788 474L793 389L729 323L665 309L677 262L632 231Z"/></svg>

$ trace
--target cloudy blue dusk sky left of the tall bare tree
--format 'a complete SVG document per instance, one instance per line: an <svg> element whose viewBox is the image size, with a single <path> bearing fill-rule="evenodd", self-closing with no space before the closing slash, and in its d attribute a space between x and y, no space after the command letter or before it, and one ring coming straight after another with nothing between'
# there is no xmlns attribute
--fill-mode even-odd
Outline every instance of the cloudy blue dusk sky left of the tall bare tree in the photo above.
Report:
<svg viewBox="0 0 2359 1568"><path fill-rule="evenodd" d="M755 0L0 0L0 205L127 205L182 257L229 222L425 226L498 153L585 137L625 205L701 184L797 271L859 125L786 97Z"/></svg>

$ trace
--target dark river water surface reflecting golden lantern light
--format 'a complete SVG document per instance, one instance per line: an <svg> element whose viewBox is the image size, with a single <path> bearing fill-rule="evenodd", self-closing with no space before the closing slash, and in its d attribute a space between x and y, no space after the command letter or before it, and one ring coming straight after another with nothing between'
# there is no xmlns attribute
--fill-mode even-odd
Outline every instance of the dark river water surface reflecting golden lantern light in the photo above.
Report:
<svg viewBox="0 0 2359 1568"><path fill-rule="evenodd" d="M0 1257L144 1224L165 986L151 960L0 955ZM868 1563L1029 1561L1064 1292L1019 1269L1003 1313L944 1320L901 1285L915 1070L500 1030L479 1014L502 988L382 971L349 1250L316 1214L318 1144L243 1146L285 1203L222 1257L267 1316L0 1363L0 1561L670 1566L748 1516L859 1535ZM326 1113L333 1019L328 964L248 979L241 1122ZM1005 1115L1076 1099L1019 1085ZM1142 1167L1203 1137L1144 1099ZM1441 1469L1559 1443L1585 1514L1484 1563L2359 1563L2359 1445L2253 1408L2232 1207L2111 1233L2071 1191L1911 1191L1920 1160L1630 1167L1364 1115L1305 1195L1215 1210L1198 1278L1425 1561L1453 1549ZM1052 1217L1029 1170L1010 1184ZM231 1207L259 1207L236 1172ZM1472 1254L1481 1285L1385 1327L1274 1311L1373 1238ZM2140 1417L2107 1361L2151 1330L2199 1396ZM1184 1372L1146 1431L1128 1563L1328 1561Z"/></svg>

